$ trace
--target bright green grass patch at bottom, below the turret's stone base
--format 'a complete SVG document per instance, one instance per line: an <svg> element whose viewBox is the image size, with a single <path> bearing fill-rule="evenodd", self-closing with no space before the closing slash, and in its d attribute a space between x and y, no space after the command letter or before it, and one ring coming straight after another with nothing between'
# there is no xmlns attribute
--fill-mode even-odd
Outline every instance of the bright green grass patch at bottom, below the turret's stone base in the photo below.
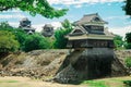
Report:
<svg viewBox="0 0 131 87"><path fill-rule="evenodd" d="M91 87L109 87L104 80L84 80L83 84L87 84Z"/></svg>

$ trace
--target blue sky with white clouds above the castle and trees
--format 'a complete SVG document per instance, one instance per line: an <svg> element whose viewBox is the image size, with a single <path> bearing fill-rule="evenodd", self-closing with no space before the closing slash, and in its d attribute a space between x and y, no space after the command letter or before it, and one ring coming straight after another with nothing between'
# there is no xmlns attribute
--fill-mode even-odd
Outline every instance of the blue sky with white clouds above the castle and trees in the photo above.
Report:
<svg viewBox="0 0 131 87"><path fill-rule="evenodd" d="M48 2L55 9L69 9L69 11L62 17L50 20L39 14L32 16L27 12L13 9L0 12L0 22L8 21L10 25L17 27L20 21L27 17L32 21L32 26L37 32L40 32L45 24L60 27L60 22L66 18L70 22L75 22L85 14L98 13L104 21L108 22L106 26L109 32L123 37L126 33L131 32L131 18L122 10L122 5L124 5L123 0L48 0Z"/></svg>

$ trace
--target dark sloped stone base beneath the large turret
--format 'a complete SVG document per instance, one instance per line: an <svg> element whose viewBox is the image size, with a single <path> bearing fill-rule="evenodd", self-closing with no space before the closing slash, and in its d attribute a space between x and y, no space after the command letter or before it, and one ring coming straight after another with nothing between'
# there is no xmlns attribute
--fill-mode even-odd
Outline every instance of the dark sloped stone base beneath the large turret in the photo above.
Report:
<svg viewBox="0 0 131 87"><path fill-rule="evenodd" d="M111 76L115 66L121 70L122 75L126 75L124 67L119 65L120 63L116 62L114 49L90 48L74 50L66 58L55 79L59 83L70 83L72 80Z"/></svg>

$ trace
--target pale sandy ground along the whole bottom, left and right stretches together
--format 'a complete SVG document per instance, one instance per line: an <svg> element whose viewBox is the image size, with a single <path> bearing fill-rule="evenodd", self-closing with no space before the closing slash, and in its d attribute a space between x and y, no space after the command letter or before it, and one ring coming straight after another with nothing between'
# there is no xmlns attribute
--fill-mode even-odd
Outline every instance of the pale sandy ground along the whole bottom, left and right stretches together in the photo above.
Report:
<svg viewBox="0 0 131 87"><path fill-rule="evenodd" d="M104 80L107 87L124 87L122 80L131 80L131 76L111 77L94 79L93 82ZM28 77L0 77L0 87L97 87L87 84L82 85L66 85L58 83L48 83L39 79L31 79Z"/></svg>

